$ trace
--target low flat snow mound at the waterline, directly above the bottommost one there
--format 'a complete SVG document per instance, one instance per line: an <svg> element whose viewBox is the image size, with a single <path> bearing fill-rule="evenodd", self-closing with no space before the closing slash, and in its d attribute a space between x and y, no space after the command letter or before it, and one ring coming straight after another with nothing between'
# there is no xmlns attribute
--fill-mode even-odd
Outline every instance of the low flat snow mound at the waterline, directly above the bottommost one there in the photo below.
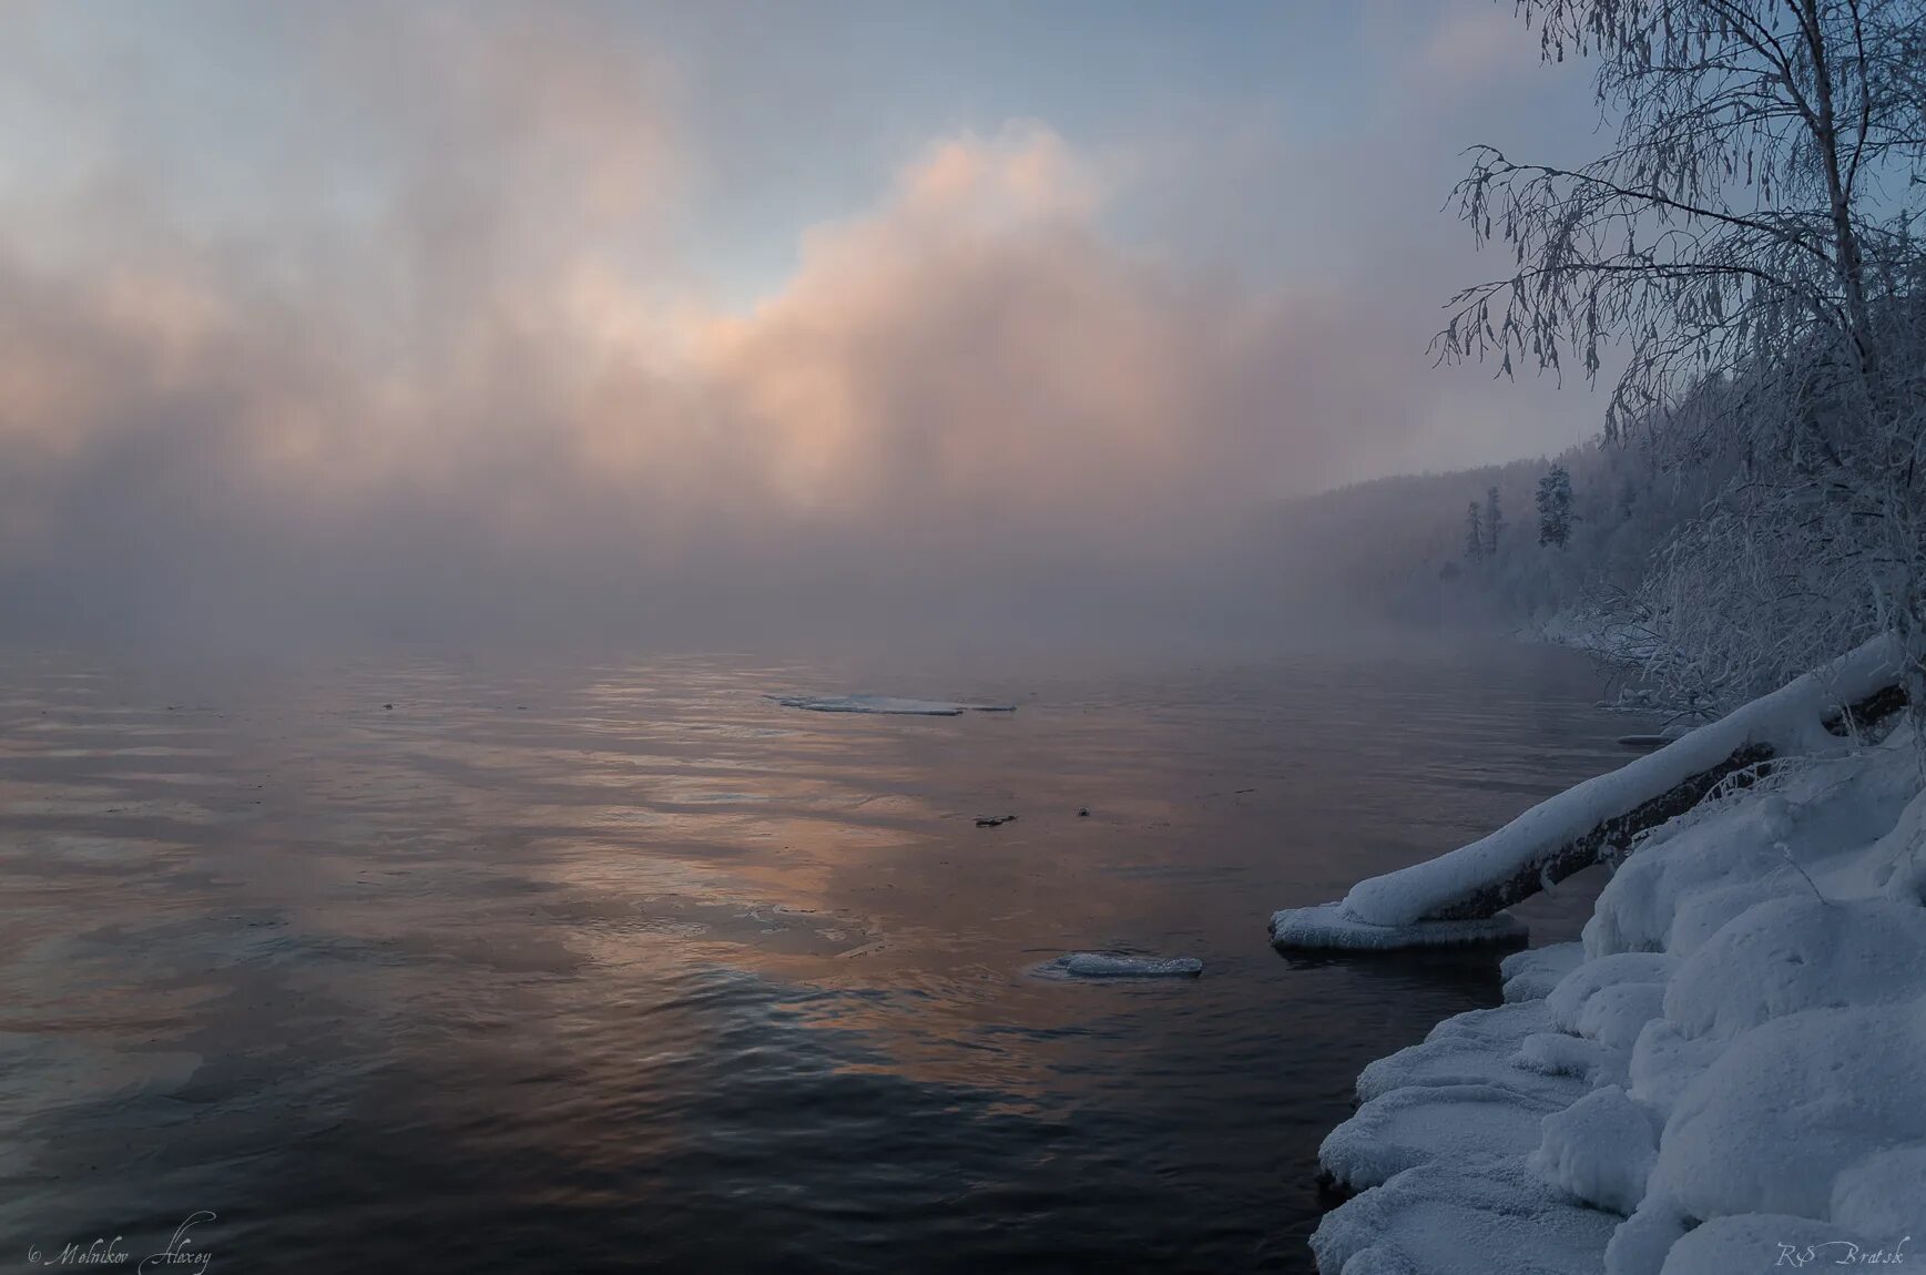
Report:
<svg viewBox="0 0 1926 1275"><path fill-rule="evenodd" d="M1527 1156L1539 1146L1539 1121L1560 1106L1498 1084L1398 1088L1333 1129L1317 1163L1335 1183L1362 1190L1423 1163Z"/></svg>

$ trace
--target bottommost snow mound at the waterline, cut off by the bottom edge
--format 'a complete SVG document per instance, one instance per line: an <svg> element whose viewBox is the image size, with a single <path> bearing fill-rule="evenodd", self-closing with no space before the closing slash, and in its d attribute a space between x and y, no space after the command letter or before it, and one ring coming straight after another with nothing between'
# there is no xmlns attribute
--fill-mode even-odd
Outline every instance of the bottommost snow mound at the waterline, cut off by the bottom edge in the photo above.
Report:
<svg viewBox="0 0 1926 1275"><path fill-rule="evenodd" d="M1522 1159L1429 1163L1325 1213L1312 1252L1323 1275L1597 1275L1616 1221Z"/></svg>

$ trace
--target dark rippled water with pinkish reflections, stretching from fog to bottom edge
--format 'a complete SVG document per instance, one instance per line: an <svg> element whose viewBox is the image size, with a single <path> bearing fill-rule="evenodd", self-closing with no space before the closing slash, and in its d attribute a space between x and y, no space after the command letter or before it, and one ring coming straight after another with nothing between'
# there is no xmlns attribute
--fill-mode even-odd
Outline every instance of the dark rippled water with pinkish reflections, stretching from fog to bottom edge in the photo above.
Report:
<svg viewBox="0 0 1926 1275"><path fill-rule="evenodd" d="M1306 1271L1354 1073L1497 978L1267 913L1626 759L1537 649L0 670L0 1273Z"/></svg>

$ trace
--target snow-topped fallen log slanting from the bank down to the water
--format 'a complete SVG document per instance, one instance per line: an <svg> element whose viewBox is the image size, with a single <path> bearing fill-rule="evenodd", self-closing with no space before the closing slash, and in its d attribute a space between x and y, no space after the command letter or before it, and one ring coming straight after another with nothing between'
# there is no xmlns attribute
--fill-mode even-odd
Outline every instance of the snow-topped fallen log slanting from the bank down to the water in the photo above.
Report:
<svg viewBox="0 0 1926 1275"><path fill-rule="evenodd" d="M1406 928L1491 917L1597 863L1606 847L1691 809L1728 774L1772 757L1837 745L1849 715L1864 724L1903 695L1901 645L1876 638L1656 753L1541 801L1491 836L1352 886L1337 911L1360 926ZM1273 942L1302 948L1300 911L1271 919ZM1329 915L1325 903L1321 915ZM1354 946L1354 944L1333 944Z"/></svg>

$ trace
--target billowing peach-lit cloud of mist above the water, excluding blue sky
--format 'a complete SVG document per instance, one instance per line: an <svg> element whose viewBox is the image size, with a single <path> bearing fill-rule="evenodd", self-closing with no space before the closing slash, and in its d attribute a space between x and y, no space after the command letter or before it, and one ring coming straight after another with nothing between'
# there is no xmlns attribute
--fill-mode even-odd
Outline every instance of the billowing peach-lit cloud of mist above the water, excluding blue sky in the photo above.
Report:
<svg viewBox="0 0 1926 1275"><path fill-rule="evenodd" d="M133 83L85 177L0 181L15 622L647 636L1152 599L1421 416L1369 297L1123 241L1142 171L1044 123L930 139L718 312L676 260L699 160L651 48L593 10L289 13L216 58L218 119ZM98 75L13 58L42 106ZM231 116L264 73L297 91ZM208 196L208 148L243 195Z"/></svg>

